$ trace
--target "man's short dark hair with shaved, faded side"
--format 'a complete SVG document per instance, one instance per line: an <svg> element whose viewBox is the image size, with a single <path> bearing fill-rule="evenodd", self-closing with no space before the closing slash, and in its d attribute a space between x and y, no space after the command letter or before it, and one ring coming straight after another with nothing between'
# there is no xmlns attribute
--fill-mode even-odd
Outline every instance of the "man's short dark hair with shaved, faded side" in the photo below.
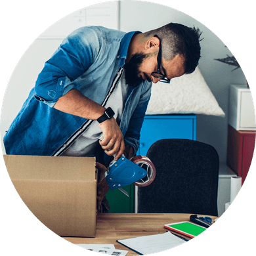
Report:
<svg viewBox="0 0 256 256"><path fill-rule="evenodd" d="M201 57L200 36L202 32L178 23L169 23L148 33L157 33L163 47L163 57L168 60L177 54L185 58L185 74L194 72Z"/></svg>

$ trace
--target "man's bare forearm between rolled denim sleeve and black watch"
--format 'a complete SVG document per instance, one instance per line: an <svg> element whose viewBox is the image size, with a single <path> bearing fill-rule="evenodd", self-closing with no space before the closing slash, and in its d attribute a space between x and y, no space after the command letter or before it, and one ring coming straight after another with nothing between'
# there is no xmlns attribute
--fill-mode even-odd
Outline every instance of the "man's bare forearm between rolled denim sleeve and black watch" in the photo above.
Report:
<svg viewBox="0 0 256 256"><path fill-rule="evenodd" d="M100 104L83 96L76 89L72 89L66 93L66 95L58 98L54 108L90 120L98 119L106 110L106 108L100 106Z"/></svg>

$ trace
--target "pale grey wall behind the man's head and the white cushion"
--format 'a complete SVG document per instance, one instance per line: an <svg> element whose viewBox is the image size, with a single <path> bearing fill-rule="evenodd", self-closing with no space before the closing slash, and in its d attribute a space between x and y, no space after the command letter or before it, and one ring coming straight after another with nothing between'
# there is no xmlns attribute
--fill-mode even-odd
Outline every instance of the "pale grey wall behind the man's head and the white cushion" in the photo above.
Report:
<svg viewBox="0 0 256 256"><path fill-rule="evenodd" d="M222 64L214 58L224 58L232 53L225 47L223 41L209 28L184 12L165 5L145 1L121 1L120 30L129 32L140 30L146 32L163 26L169 22L181 23L186 26L195 26L203 32L201 41L202 58L199 62L200 71L217 99L219 106L226 116L198 115L197 139L211 144L219 153L220 161L226 161L226 142L228 124L228 87L231 83L246 84L242 70L233 69L227 64ZM234 53L235 54L235 53Z"/></svg>

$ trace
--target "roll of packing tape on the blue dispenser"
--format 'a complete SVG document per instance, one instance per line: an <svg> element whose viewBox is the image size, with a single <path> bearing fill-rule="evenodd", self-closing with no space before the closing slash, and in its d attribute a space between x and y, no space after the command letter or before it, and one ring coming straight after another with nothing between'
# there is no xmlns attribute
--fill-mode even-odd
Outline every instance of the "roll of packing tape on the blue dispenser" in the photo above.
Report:
<svg viewBox="0 0 256 256"><path fill-rule="evenodd" d="M131 158L131 161L142 167L147 172L146 177L134 182L133 184L135 184L135 186L148 186L151 184L156 177L156 168L152 161L150 161L146 156L134 156Z"/></svg>

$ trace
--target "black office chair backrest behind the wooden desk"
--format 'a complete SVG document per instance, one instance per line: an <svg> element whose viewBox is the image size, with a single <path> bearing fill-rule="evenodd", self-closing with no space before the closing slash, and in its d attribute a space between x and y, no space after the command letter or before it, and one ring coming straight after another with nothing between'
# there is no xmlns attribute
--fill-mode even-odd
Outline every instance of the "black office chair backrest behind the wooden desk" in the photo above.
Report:
<svg viewBox="0 0 256 256"><path fill-rule="evenodd" d="M138 188L138 213L218 216L219 155L213 146L186 139L158 140L148 150L156 178Z"/></svg>

